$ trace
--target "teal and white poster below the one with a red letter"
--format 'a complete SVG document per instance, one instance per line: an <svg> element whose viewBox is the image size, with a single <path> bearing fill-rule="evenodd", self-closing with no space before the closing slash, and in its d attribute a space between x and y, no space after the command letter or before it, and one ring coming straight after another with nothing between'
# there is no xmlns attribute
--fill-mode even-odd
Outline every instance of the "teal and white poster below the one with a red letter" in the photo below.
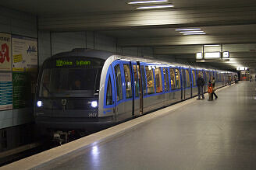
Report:
<svg viewBox="0 0 256 170"><path fill-rule="evenodd" d="M12 73L0 73L0 110L12 109Z"/></svg>

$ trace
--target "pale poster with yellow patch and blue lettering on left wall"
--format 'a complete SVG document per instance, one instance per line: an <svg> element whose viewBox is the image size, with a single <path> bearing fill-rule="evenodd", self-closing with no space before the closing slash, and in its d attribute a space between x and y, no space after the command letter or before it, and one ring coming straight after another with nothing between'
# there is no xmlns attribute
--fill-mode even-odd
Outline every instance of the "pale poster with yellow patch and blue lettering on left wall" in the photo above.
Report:
<svg viewBox="0 0 256 170"><path fill-rule="evenodd" d="M37 69L37 39L12 36L12 71Z"/></svg>

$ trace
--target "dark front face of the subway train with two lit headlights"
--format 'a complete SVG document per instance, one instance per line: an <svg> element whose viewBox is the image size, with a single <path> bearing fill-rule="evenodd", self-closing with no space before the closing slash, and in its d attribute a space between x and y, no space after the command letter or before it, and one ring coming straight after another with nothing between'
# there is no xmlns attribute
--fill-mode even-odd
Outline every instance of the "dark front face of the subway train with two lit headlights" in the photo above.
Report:
<svg viewBox="0 0 256 170"><path fill-rule="evenodd" d="M66 139L70 134L102 127L98 99L104 63L101 58L73 53L44 61L35 103L35 121L43 134ZM108 125L111 121L104 123Z"/></svg>

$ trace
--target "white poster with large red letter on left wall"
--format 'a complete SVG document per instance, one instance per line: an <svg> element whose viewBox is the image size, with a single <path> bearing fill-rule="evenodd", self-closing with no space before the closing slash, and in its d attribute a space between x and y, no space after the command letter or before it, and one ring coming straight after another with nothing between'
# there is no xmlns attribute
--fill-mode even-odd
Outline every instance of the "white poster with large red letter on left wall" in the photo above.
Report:
<svg viewBox="0 0 256 170"><path fill-rule="evenodd" d="M12 70L11 56L11 35L8 33L0 33L0 71Z"/></svg>

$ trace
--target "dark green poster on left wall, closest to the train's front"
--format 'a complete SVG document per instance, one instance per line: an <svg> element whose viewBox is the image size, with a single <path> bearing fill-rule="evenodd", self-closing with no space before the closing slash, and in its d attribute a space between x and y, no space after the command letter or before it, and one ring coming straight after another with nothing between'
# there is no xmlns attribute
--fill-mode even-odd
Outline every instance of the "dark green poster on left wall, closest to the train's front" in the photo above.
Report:
<svg viewBox="0 0 256 170"><path fill-rule="evenodd" d="M13 109L31 106L32 93L30 73L12 72Z"/></svg>

